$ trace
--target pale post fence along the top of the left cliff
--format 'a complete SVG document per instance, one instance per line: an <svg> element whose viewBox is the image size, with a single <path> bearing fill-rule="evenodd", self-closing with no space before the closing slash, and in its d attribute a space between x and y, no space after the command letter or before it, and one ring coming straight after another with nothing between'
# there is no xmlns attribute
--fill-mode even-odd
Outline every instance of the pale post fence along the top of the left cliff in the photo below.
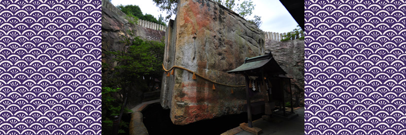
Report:
<svg viewBox="0 0 406 135"><path fill-rule="evenodd" d="M111 4L109 0L101 0L101 6L105 7L106 9L110 10L113 13L120 15L121 17L124 17L124 18L129 17L129 16L127 16L127 14L125 14L120 9L118 9L116 6ZM134 20L134 19L131 17L131 20ZM146 20L141 20L141 19L138 20L138 25L147 27L147 28L151 28L151 29L155 29L155 30L161 30L161 31L166 30L166 27L163 25L160 25L160 24L157 24L154 22L150 22L150 21L146 21Z"/></svg>

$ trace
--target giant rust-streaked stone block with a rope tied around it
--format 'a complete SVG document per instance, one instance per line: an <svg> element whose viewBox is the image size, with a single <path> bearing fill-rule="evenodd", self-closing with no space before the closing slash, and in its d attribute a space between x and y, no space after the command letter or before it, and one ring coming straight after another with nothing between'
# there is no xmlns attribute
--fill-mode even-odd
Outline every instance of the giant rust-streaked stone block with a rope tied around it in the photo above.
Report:
<svg viewBox="0 0 406 135"><path fill-rule="evenodd" d="M227 74L246 57L264 54L264 34L238 14L208 0L180 0L175 21L165 36L164 66L183 66L216 82L245 85L242 75ZM176 69L163 75L161 105L171 109L174 124L184 125L227 114L245 112L244 87L231 88ZM233 93L231 93L233 89ZM251 97L262 100L264 94Z"/></svg>

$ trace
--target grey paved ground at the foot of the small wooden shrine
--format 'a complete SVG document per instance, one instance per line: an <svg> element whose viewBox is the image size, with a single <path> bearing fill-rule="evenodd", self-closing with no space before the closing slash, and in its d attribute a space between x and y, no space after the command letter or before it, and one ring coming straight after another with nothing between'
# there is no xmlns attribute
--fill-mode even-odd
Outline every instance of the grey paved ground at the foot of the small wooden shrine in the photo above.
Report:
<svg viewBox="0 0 406 135"><path fill-rule="evenodd" d="M281 135L281 134L304 134L304 108L294 110L299 116L289 121L282 120L281 123L272 123L262 119L258 119L252 122L253 126L262 129L261 135ZM241 130L240 127L231 129L233 133L225 132L223 134L234 134L235 131L239 131L236 135L252 135L252 133Z"/></svg>

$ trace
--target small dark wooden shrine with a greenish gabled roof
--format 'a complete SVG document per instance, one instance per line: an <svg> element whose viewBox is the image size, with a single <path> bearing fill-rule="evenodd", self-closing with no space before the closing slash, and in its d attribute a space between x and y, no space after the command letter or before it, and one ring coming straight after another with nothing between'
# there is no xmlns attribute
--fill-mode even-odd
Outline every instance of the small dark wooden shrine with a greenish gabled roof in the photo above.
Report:
<svg viewBox="0 0 406 135"><path fill-rule="evenodd" d="M243 74L246 82L247 94L247 112L248 126L252 127L252 106L250 97L252 91L257 90L266 92L264 97L264 113L272 115L275 112L275 104L279 103L279 109L283 112L283 116L287 116L285 111L285 103L291 103L291 111L293 114L292 92L290 87L290 79L286 77L286 72L282 70L279 64L275 61L272 53L265 55L246 58L244 64L234 70L228 71L233 74ZM275 113L276 114L276 113Z"/></svg>

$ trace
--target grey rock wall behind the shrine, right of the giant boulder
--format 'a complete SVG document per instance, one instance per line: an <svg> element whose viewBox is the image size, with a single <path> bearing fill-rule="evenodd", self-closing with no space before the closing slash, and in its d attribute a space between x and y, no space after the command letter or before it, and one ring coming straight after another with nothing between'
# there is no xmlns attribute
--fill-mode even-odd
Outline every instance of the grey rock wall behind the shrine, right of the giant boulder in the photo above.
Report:
<svg viewBox="0 0 406 135"><path fill-rule="evenodd" d="M265 40L265 52L272 51L278 64L291 79L292 96L304 99L304 40L276 42ZM293 104L295 103L293 98ZM292 103L291 103L292 104ZM300 103L299 103L300 104Z"/></svg>

